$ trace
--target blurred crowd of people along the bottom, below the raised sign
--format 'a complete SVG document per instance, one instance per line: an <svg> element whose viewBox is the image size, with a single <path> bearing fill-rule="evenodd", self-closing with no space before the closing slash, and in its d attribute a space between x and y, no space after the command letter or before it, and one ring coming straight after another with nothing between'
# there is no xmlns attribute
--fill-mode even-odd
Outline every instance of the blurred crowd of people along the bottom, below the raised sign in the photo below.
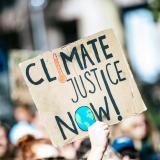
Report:
<svg viewBox="0 0 160 160"><path fill-rule="evenodd" d="M94 128L91 131L94 138L89 136L61 148L54 147L32 105L16 103L14 119L12 126L0 122L1 160L87 159L91 150L90 139L102 143L99 137L103 133ZM128 118L109 130L104 160L160 159L160 137L145 114Z"/></svg>

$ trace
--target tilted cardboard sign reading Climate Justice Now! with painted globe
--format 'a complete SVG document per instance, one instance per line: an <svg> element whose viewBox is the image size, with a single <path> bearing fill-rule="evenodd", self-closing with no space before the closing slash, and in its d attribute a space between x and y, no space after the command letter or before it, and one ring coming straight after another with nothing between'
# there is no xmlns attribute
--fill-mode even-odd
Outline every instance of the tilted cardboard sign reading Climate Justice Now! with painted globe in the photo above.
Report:
<svg viewBox="0 0 160 160"><path fill-rule="evenodd" d="M141 99L111 29L20 64L52 142L87 135L96 120L112 125L141 113Z"/></svg>

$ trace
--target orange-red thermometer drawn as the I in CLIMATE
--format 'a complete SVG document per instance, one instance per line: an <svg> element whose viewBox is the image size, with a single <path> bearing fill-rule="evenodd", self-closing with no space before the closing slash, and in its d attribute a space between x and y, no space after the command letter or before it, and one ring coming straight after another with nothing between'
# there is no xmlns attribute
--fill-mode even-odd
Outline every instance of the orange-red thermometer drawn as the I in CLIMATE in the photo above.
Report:
<svg viewBox="0 0 160 160"><path fill-rule="evenodd" d="M61 82L61 83L66 82L67 77L62 71L62 68L60 66L60 63L59 63L59 60L58 60L58 56L57 56L56 53L53 53L53 60L54 60L54 64L56 66L57 72L59 74L59 77L58 77L59 82Z"/></svg>

